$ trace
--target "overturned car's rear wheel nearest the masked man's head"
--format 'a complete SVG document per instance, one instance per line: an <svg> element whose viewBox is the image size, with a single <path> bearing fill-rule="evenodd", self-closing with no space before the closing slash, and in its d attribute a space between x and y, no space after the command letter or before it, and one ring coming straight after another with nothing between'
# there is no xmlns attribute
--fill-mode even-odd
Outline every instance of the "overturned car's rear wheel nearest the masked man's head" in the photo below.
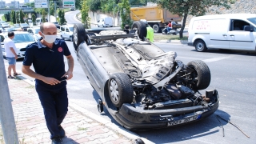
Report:
<svg viewBox="0 0 256 144"><path fill-rule="evenodd" d="M74 50L78 50L78 46L80 45L80 43L84 41L87 42L86 30L85 30L85 27L82 25L82 23L74 24L73 38L74 38L74 41L73 41Z"/></svg>

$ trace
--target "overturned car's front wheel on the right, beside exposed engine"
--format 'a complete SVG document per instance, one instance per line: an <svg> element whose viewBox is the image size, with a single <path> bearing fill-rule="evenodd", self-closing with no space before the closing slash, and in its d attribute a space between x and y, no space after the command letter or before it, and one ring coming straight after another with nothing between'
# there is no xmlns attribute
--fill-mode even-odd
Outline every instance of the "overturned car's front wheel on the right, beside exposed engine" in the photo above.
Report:
<svg viewBox="0 0 256 144"><path fill-rule="evenodd" d="M210 69L206 63L196 60L189 62L187 66L194 69L194 72L189 75L190 86L195 90L206 89L210 85Z"/></svg>

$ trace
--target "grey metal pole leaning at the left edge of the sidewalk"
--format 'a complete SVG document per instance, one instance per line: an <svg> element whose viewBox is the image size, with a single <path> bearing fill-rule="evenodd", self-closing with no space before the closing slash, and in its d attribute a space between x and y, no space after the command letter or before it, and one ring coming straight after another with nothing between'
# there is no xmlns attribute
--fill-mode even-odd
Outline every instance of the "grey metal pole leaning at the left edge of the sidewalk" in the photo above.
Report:
<svg viewBox="0 0 256 144"><path fill-rule="evenodd" d="M1 42L1 37L0 37ZM10 91L6 79L6 68L2 57L2 46L0 45L0 119L2 133L5 143L19 143L16 125L14 121L14 111L10 102Z"/></svg>

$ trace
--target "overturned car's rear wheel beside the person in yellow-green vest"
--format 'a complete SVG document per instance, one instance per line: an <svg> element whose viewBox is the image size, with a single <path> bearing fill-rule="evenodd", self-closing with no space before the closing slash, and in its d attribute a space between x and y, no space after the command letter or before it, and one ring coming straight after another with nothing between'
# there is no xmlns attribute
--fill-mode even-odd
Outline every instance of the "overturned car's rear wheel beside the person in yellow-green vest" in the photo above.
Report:
<svg viewBox="0 0 256 144"><path fill-rule="evenodd" d="M138 30L138 37L144 40L146 37L146 24L142 21L135 21L131 26L132 30Z"/></svg>

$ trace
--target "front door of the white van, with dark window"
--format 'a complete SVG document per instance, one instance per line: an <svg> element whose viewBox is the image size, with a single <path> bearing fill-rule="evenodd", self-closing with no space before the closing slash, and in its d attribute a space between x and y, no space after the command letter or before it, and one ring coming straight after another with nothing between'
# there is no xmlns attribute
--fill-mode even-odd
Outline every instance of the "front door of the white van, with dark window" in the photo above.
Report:
<svg viewBox="0 0 256 144"><path fill-rule="evenodd" d="M250 26L250 23L239 19L230 20L230 31L228 32L230 49L255 50L255 32L244 30L245 26Z"/></svg>

